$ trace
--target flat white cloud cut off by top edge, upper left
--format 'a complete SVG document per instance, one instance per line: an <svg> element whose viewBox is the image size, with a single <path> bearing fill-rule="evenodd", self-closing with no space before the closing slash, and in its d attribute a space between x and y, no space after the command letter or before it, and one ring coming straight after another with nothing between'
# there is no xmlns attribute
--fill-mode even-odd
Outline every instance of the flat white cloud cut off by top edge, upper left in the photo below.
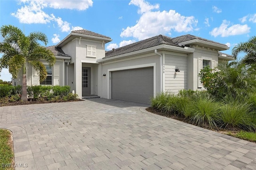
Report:
<svg viewBox="0 0 256 170"><path fill-rule="evenodd" d="M54 9L86 10L92 6L92 0L20 0L23 3L43 3Z"/></svg>

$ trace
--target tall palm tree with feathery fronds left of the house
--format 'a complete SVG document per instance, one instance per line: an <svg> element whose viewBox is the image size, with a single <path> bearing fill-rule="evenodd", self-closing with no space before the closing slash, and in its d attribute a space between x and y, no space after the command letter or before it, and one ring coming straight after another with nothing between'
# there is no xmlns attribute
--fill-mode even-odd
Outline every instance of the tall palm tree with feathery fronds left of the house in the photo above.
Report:
<svg viewBox="0 0 256 170"><path fill-rule="evenodd" d="M40 75L40 81L46 79L47 71L40 59L46 60L50 67L55 64L54 54L46 47L40 45L39 41L45 45L48 43L46 35L42 32L32 32L26 36L19 28L12 25L4 25L0 28L0 34L4 38L0 42L0 71L8 68L13 78L17 78L22 71L22 97L27 99L26 82L26 62L28 62Z"/></svg>

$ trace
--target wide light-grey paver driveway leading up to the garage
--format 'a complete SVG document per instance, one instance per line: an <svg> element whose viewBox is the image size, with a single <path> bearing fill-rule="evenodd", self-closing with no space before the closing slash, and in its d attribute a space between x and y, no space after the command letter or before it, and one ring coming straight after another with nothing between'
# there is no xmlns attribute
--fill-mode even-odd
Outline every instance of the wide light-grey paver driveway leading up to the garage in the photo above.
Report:
<svg viewBox="0 0 256 170"><path fill-rule="evenodd" d="M146 107L107 99L0 107L0 128L13 132L16 170L256 169L255 143Z"/></svg>

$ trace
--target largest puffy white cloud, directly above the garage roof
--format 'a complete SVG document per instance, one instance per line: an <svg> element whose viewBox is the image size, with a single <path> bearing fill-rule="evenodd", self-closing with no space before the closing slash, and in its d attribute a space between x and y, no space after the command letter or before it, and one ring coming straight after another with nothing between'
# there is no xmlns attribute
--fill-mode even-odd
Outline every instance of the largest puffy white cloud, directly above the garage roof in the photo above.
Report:
<svg viewBox="0 0 256 170"><path fill-rule="evenodd" d="M158 34L168 34L172 30L176 32L193 31L198 20L194 16L182 16L175 10L145 12L134 26L123 29L121 37L134 37L144 40Z"/></svg>

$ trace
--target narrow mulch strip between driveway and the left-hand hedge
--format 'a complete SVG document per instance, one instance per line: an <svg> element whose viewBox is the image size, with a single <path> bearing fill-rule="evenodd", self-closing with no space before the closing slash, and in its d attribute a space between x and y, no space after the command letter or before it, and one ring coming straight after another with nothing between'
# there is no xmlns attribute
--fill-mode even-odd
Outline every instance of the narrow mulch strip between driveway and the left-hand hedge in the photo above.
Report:
<svg viewBox="0 0 256 170"><path fill-rule="evenodd" d="M33 104L42 104L42 103L62 103L62 102L72 102L72 101L84 101L84 100L77 99L77 100L70 100L70 101L64 101L64 100L58 100L58 101L47 101L47 100L14 101L14 102L8 102L8 103L0 103L0 107L1 106L16 106L16 105L33 105Z"/></svg>

